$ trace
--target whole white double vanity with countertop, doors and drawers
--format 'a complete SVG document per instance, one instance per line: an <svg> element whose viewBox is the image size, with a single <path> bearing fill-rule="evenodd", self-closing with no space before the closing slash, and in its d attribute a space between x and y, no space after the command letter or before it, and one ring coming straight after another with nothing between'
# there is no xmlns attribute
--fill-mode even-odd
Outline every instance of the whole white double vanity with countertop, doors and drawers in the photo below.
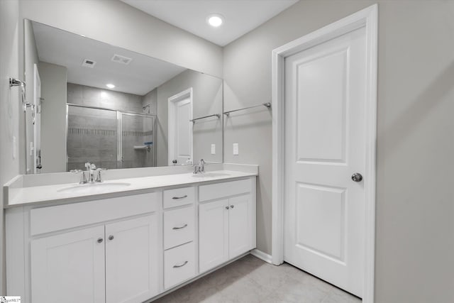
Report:
<svg viewBox="0 0 454 303"><path fill-rule="evenodd" d="M195 175L143 168L123 179L107 171L106 181L81 185L67 182L77 180L70 173L12 180L4 187L8 294L148 302L249 253L258 168L216 166Z"/></svg>

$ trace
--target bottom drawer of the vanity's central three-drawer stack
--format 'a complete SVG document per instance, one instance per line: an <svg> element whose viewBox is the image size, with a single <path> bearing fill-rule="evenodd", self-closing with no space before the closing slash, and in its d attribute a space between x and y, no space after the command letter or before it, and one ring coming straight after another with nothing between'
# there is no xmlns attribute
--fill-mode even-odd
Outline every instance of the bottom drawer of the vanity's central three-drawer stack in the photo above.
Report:
<svg viewBox="0 0 454 303"><path fill-rule="evenodd" d="M196 275L194 242L165 250L164 288L167 290Z"/></svg>

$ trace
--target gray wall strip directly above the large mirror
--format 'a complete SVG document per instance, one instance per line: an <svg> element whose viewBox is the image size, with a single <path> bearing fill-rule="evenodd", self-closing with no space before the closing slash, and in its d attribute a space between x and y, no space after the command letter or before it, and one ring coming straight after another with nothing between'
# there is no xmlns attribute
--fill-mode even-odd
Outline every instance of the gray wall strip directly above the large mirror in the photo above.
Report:
<svg viewBox="0 0 454 303"><path fill-rule="evenodd" d="M20 9L21 18L192 70L222 75L220 46L118 0L21 0Z"/></svg>

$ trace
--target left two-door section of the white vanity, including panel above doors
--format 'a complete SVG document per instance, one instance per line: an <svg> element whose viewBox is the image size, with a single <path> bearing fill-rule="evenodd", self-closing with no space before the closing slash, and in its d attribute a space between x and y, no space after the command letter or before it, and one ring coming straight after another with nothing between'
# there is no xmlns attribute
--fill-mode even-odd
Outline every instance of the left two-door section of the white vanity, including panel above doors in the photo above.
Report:
<svg viewBox="0 0 454 303"><path fill-rule="evenodd" d="M154 297L161 291L161 200L151 192L24 208L22 214L14 209L7 224L22 218L16 236L23 233L30 243L29 269L25 265L25 276L18 277L24 302L137 303ZM7 236L9 255L15 232Z"/></svg>

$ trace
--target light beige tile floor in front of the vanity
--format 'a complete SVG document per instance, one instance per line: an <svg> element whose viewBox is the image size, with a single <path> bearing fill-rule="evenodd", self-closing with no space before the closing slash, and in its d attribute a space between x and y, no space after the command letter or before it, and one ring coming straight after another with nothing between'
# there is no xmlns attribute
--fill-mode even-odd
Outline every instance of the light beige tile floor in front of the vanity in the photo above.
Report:
<svg viewBox="0 0 454 303"><path fill-rule="evenodd" d="M247 255L155 302L358 303L361 299L287 263L275 266Z"/></svg>

